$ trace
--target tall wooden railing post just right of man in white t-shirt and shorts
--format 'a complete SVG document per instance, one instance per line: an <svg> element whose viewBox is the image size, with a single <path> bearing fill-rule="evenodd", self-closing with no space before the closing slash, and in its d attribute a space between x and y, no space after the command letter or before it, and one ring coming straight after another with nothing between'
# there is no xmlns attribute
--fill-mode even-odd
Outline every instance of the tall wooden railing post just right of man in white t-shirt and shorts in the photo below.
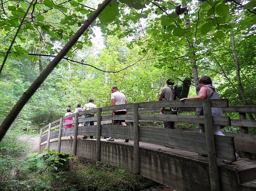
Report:
<svg viewBox="0 0 256 191"><path fill-rule="evenodd" d="M133 104L133 131L134 131L134 173L140 172L140 147L139 147L139 104Z"/></svg>

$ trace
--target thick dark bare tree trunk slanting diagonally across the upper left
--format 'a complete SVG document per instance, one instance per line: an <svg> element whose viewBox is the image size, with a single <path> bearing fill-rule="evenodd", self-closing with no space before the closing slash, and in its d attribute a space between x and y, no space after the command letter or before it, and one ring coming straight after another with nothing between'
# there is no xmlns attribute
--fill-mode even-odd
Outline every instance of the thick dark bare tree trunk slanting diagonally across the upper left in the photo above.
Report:
<svg viewBox="0 0 256 191"><path fill-rule="evenodd" d="M88 18L83 26L76 32L76 34L69 40L69 42L63 47L63 49L58 53L58 55L50 62L50 64L45 68L45 70L38 76L38 78L34 81L34 83L28 88L28 90L22 95L20 100L18 100L17 104L12 108L11 112L7 115L5 120L0 126L0 141L2 141L3 136L12 125L13 121L20 113L21 109L24 107L26 102L30 99L30 97L35 93L35 91L41 86L43 81L48 77L48 75L53 71L55 66L61 61L61 59L68 53L71 47L76 43L79 37L82 36L84 31L88 29L91 23L99 16L102 10L111 2L111 0L105 0L98 9Z"/></svg>

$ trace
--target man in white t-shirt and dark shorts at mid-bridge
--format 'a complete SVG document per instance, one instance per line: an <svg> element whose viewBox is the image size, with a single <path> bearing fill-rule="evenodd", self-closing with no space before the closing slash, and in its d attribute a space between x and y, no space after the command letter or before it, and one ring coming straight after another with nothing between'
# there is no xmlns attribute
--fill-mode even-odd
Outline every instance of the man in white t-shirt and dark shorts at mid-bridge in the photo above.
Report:
<svg viewBox="0 0 256 191"><path fill-rule="evenodd" d="M127 104L126 96L118 91L118 88L116 86L111 87L111 105L121 105L121 104ZM121 110L113 110L112 115L126 115L128 112L127 109L121 109ZM113 120L113 124L120 123L121 125L126 126L125 120ZM107 138L107 141L114 141L115 139L113 137ZM128 142L129 139L125 139L124 142Z"/></svg>

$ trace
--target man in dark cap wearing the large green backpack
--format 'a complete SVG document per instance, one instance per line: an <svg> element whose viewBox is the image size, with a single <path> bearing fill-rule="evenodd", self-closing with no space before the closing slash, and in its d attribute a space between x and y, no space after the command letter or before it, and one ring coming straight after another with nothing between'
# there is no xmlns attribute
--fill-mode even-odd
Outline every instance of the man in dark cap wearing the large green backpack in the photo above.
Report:
<svg viewBox="0 0 256 191"><path fill-rule="evenodd" d="M162 100L173 100L174 99L174 81L172 79L167 79L167 86L162 89L160 96L158 98L159 101ZM177 115L177 111L172 111L171 107L164 107L160 109L160 114L174 114ZM175 129L174 121L164 121L164 128L166 129Z"/></svg>

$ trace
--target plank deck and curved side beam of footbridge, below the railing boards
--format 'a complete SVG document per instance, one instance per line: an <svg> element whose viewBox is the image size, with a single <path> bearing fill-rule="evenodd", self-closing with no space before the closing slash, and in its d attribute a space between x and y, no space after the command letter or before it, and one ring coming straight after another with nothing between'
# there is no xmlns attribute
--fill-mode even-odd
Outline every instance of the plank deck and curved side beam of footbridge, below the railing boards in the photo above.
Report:
<svg viewBox="0 0 256 191"><path fill-rule="evenodd" d="M96 139L78 139L76 155L96 159ZM50 142L56 149L58 141ZM46 144L42 147L45 148ZM61 141L61 152L71 152L73 139ZM101 161L133 172L134 142L123 139L106 141L101 139ZM139 142L139 174L178 190L210 190L208 158L195 152ZM43 149L42 148L42 149ZM256 179L256 161L239 160L231 164L216 158L221 190L256 190L254 184L248 188L250 180Z"/></svg>

